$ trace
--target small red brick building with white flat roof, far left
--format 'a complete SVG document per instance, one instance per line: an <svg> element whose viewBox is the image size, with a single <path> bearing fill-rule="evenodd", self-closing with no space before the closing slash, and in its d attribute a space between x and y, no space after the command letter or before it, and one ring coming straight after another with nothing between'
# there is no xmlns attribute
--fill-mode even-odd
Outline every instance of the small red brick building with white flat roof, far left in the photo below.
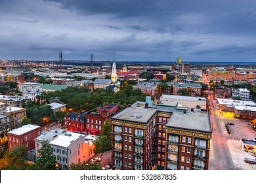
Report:
<svg viewBox="0 0 256 183"><path fill-rule="evenodd" d="M35 148L34 139L41 135L41 127L37 125L24 125L7 133L9 150L14 146L25 146L26 151Z"/></svg>

